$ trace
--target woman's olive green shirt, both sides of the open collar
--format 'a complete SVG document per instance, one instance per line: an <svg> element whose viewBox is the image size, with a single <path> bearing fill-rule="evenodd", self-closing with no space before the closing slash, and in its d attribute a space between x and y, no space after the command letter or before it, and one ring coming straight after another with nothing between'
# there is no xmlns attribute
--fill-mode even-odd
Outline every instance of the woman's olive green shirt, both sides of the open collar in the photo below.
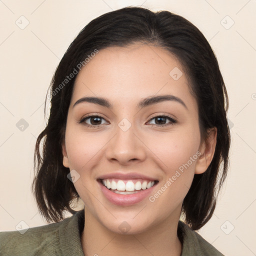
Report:
<svg viewBox="0 0 256 256"><path fill-rule="evenodd" d="M84 256L80 240L83 227L84 210L80 210L60 222L28 228L23 234L0 232L0 255ZM182 221L178 222L178 236L182 243L181 256L223 256Z"/></svg>

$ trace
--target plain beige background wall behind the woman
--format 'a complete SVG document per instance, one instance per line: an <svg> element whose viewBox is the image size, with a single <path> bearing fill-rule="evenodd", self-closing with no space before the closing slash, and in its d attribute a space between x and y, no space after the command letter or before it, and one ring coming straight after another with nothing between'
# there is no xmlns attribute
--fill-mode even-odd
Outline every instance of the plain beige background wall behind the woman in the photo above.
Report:
<svg viewBox="0 0 256 256"><path fill-rule="evenodd" d="M256 255L256 0L0 1L0 230L46 223L30 186L51 76L85 24L127 5L180 14L209 40L229 94L232 144L216 210L199 233L225 255ZM23 131L16 126L21 118L28 123Z"/></svg>

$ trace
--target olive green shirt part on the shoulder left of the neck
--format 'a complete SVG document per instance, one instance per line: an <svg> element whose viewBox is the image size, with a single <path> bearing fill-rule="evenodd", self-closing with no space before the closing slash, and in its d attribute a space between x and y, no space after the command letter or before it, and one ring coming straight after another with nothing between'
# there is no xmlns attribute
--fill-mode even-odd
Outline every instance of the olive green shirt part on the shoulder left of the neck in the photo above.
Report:
<svg viewBox="0 0 256 256"><path fill-rule="evenodd" d="M24 233L0 232L0 255L62 255L70 237L70 241L76 239L77 242L77 213L60 222L28 228Z"/></svg>

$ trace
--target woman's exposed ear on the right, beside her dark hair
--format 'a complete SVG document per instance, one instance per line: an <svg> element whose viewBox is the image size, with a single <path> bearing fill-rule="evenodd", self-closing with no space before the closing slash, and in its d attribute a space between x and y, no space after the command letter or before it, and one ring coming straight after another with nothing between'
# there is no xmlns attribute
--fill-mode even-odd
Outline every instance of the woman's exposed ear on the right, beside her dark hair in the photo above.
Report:
<svg viewBox="0 0 256 256"><path fill-rule="evenodd" d="M205 141L201 141L199 152L201 153L195 164L195 174L201 174L210 165L216 146L217 128L213 127L208 130L208 136Z"/></svg>

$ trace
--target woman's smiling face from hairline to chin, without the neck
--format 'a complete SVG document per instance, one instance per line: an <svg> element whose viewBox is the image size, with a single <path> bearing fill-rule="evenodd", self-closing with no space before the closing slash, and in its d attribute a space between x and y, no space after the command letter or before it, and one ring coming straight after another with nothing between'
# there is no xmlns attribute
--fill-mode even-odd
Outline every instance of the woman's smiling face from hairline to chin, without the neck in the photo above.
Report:
<svg viewBox="0 0 256 256"><path fill-rule="evenodd" d="M197 103L170 52L108 47L79 71L63 164L87 215L101 226L138 233L179 218L194 174L207 167L200 146Z"/></svg>

